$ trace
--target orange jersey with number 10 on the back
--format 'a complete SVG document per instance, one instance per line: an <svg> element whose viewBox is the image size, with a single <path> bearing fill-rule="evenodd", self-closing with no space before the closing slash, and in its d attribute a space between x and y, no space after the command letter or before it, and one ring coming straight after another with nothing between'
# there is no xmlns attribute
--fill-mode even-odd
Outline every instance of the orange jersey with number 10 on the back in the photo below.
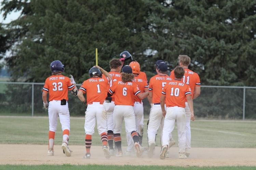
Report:
<svg viewBox="0 0 256 170"><path fill-rule="evenodd" d="M189 85L180 80L173 80L164 86L162 95L165 95L166 107L185 107L186 95L192 96L192 92Z"/></svg>

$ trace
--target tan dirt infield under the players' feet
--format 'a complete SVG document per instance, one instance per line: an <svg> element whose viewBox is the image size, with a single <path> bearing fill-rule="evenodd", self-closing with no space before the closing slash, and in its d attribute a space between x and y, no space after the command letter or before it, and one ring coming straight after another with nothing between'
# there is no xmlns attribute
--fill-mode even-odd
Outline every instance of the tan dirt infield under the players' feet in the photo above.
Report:
<svg viewBox="0 0 256 170"><path fill-rule="evenodd" d="M153 158L135 156L104 157L102 147L92 146L91 159L83 158L85 146L70 146L71 157L66 157L59 145L54 146L55 155L47 156L45 145L0 144L0 164L104 164L104 165L170 165L170 166L256 166L256 148L192 148L188 159L178 159L178 148L170 149L170 158L159 158L160 148L156 148ZM125 148L123 148L125 151Z"/></svg>

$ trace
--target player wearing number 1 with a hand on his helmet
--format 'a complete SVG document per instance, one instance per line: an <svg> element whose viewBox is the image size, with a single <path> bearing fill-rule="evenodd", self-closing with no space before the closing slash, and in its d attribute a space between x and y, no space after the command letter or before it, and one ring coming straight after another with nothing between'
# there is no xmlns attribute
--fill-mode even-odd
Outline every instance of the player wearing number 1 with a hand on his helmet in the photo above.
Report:
<svg viewBox="0 0 256 170"><path fill-rule="evenodd" d="M102 73L107 78L102 78ZM89 70L89 75L90 79L85 80L78 90L78 98L85 103L86 100L83 95L86 93L87 99L87 109L85 112L84 122L86 147L86 154L84 158L91 157L90 149L96 121L98 133L102 140L103 152L106 158L110 158L110 153L107 148L107 118L104 101L111 76L107 71L99 66L92 67Z"/></svg>

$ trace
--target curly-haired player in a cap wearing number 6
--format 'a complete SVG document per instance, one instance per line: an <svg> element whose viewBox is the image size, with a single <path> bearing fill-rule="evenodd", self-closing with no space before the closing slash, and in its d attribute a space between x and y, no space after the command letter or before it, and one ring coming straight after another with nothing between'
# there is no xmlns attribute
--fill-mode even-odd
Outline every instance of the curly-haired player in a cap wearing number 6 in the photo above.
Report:
<svg viewBox="0 0 256 170"><path fill-rule="evenodd" d="M134 95L140 99L144 99L148 96L148 92L142 93L136 83L132 81L134 78L132 74L132 68L130 66L124 66L121 73L122 80L116 81L109 89L108 97L115 94L115 107L113 112L113 129L114 129L114 141L115 146L118 148L116 156L121 157L121 130L122 122L125 122L125 130L129 132L134 141L134 148L136 150L137 157L142 155L140 151L138 133L136 132L136 121L134 115Z"/></svg>

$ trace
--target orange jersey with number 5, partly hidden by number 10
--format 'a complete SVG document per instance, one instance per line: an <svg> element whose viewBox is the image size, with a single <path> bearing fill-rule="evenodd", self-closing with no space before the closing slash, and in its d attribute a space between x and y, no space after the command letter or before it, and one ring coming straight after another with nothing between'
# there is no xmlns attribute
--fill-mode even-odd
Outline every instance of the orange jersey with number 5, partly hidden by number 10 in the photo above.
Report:
<svg viewBox="0 0 256 170"><path fill-rule="evenodd" d="M152 103L160 103L163 87L172 81L168 75L154 75L149 81L148 90L153 92Z"/></svg>

